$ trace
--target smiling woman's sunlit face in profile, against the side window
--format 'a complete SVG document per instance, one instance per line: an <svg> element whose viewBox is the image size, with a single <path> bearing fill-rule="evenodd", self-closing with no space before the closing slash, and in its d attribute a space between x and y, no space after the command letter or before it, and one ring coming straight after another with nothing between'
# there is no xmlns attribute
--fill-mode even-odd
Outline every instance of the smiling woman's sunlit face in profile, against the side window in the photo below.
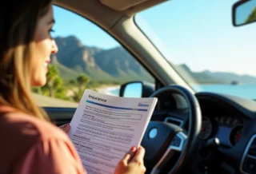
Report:
<svg viewBox="0 0 256 174"><path fill-rule="evenodd" d="M40 18L35 31L30 79L33 86L46 84L47 65L50 63L50 55L58 52L58 46L50 35L53 26L53 8L50 6L48 13Z"/></svg>

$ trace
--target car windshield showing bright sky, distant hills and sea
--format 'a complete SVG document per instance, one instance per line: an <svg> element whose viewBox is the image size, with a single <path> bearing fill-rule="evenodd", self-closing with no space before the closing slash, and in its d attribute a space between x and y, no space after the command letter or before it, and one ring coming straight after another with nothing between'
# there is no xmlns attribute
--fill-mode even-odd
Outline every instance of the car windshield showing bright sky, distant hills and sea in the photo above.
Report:
<svg viewBox="0 0 256 174"><path fill-rule="evenodd" d="M234 27L234 0L172 0L135 22L195 91L256 99L256 23Z"/></svg>

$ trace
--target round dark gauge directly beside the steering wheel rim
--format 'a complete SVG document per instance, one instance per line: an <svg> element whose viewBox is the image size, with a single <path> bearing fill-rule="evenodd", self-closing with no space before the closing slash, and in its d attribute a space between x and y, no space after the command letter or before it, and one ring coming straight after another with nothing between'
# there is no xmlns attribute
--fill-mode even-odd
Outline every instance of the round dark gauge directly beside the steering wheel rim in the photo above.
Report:
<svg viewBox="0 0 256 174"><path fill-rule="evenodd" d="M210 134L213 132L213 124L208 117L202 117L202 129L199 134L199 138L206 140L210 137Z"/></svg>

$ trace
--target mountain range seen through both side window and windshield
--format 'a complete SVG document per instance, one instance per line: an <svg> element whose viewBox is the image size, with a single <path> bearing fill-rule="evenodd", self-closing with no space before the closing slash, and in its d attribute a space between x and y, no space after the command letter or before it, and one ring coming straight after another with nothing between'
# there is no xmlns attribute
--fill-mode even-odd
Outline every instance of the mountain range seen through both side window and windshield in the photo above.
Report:
<svg viewBox="0 0 256 174"><path fill-rule="evenodd" d="M154 81L122 47L101 49L86 46L74 36L58 37L55 38L55 42L58 45L58 53L52 57L51 62L58 67L61 77L65 80L86 73L94 81ZM256 83L256 77L223 72L193 72L185 64L174 65L174 69L190 83L230 84L232 81Z"/></svg>

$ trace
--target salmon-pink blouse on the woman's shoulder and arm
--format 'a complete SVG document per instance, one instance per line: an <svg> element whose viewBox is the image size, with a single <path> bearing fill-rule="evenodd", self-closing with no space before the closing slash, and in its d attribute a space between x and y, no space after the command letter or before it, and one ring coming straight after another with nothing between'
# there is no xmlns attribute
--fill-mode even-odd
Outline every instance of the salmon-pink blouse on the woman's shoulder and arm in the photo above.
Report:
<svg viewBox="0 0 256 174"><path fill-rule="evenodd" d="M66 133L46 121L0 106L0 173L85 174Z"/></svg>

